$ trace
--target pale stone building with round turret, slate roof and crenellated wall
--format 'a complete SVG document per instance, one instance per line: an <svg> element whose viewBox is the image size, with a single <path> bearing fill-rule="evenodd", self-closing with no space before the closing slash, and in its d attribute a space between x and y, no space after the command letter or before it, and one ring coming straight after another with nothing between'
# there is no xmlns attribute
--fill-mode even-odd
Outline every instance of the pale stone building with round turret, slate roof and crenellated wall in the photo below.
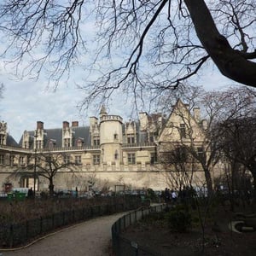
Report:
<svg viewBox="0 0 256 256"><path fill-rule="evenodd" d="M161 113L139 113L138 121L124 122L119 115L108 114L103 106L99 118L90 117L88 126L63 121L61 128L48 129L38 121L34 131L23 132L19 143L7 134L7 125L2 123L0 182L3 187L12 183L14 187L46 190L49 180L41 175L40 165L44 163L37 159L61 154L62 162L72 161L73 165L55 173L55 189L165 189L171 186L173 169L163 163L163 155L170 151L170 145L190 140L185 135L188 124L184 117L192 122L193 139L200 151L204 140L200 110L189 113L181 101L173 106L168 118ZM196 184L204 183L200 167L196 172Z"/></svg>

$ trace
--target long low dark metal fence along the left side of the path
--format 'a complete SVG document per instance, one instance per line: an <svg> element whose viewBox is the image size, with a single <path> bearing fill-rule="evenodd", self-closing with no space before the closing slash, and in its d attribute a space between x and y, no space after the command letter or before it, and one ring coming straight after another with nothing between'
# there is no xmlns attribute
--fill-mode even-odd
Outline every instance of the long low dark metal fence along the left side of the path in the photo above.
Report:
<svg viewBox="0 0 256 256"><path fill-rule="evenodd" d="M71 211L57 212L40 218L29 219L15 224L0 225L0 244L2 248L17 247L44 236L58 228L79 223L90 218L125 212L141 206L142 201L125 199L125 202L112 205L83 207Z"/></svg>

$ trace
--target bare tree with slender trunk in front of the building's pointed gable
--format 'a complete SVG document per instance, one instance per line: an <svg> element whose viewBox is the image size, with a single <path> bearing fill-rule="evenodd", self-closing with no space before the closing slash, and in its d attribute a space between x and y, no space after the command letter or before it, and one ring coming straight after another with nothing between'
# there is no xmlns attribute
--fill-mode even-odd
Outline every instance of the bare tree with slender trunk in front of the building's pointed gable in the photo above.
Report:
<svg viewBox="0 0 256 256"><path fill-rule="evenodd" d="M225 131L220 124L251 109L253 94L254 90L246 87L206 92L201 87L187 86L176 92L176 100L181 98L186 104L178 100L172 107L172 113L179 118L179 121L172 122L178 137L176 141L173 141L173 134L168 134L168 137L170 143L178 143L186 148L200 166L209 195L213 189L212 170L223 157L223 143L219 138L224 136ZM173 94L170 98L166 95L163 102L172 103L173 97ZM197 107L200 107L200 111Z"/></svg>

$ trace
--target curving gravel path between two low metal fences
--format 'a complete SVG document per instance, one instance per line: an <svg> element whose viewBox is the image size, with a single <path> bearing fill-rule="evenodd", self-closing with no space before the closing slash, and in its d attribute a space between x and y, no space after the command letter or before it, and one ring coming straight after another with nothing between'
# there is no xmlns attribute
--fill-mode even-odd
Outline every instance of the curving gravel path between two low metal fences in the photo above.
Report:
<svg viewBox="0 0 256 256"><path fill-rule="evenodd" d="M90 219L60 230L28 247L13 251L1 251L3 256L108 256L112 224L125 212Z"/></svg>

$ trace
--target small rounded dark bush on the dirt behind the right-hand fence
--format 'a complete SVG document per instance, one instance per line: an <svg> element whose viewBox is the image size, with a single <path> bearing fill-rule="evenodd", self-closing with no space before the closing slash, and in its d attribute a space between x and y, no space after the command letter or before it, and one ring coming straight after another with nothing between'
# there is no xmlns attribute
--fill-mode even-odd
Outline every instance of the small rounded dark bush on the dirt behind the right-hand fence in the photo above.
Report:
<svg viewBox="0 0 256 256"><path fill-rule="evenodd" d="M191 227L191 214L183 208L174 208L167 213L168 225L172 231L187 232Z"/></svg>

